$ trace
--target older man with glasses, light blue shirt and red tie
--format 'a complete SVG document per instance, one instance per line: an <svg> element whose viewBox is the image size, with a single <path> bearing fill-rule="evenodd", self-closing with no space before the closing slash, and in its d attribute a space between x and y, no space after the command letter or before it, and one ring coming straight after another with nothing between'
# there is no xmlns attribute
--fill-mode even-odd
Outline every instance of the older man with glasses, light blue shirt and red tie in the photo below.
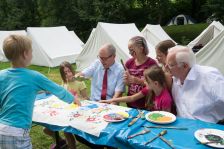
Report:
<svg viewBox="0 0 224 149"><path fill-rule="evenodd" d="M111 99L124 92L123 67L115 62L116 49L105 44L99 49L98 59L76 76L92 78L90 100Z"/></svg>

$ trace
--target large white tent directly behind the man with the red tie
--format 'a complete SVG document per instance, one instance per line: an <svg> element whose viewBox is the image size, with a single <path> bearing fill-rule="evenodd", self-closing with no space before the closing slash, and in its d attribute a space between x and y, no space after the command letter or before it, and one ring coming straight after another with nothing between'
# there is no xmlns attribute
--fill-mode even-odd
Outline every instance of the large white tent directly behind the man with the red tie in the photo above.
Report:
<svg viewBox="0 0 224 149"><path fill-rule="evenodd" d="M128 41L134 36L142 36L134 23L131 24L112 24L98 23L91 38L86 42L83 51L77 58L77 70L83 70L88 67L96 58L99 48L105 43L111 43L116 48L116 61L130 58L128 50ZM155 50L151 44L148 44L150 56L155 58ZM152 51L152 52L151 52Z"/></svg>

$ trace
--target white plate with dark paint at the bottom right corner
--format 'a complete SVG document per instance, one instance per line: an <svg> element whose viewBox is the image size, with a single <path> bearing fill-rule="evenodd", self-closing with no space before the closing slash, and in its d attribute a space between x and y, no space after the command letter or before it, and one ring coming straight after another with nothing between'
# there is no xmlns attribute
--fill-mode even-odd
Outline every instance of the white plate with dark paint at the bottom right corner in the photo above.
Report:
<svg viewBox="0 0 224 149"><path fill-rule="evenodd" d="M197 131L195 131L194 136L195 138L200 141L200 142L209 142L211 140L208 140L206 138L206 135L216 135L221 137L222 139L224 139L224 131L222 130L218 130L218 129L199 129ZM224 145L220 144L220 143L209 143L206 144L208 146L211 147L216 147L216 148L224 148Z"/></svg>

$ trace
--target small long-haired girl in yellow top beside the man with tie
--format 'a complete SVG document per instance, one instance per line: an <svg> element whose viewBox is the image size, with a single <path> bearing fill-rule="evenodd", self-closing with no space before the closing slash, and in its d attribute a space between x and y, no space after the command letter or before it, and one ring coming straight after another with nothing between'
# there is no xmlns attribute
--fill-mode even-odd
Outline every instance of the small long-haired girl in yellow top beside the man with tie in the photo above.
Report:
<svg viewBox="0 0 224 149"><path fill-rule="evenodd" d="M75 72L72 65L69 62L64 61L61 63L59 70L63 80L62 86L70 91L76 98L88 99L85 82L74 79ZM47 128L44 129L44 133L52 136L53 138L55 136L54 132ZM64 135L69 149L75 149L76 141L73 134L64 132ZM66 145L66 142L59 136L59 145L61 147ZM55 148L55 144L53 144L51 148Z"/></svg>

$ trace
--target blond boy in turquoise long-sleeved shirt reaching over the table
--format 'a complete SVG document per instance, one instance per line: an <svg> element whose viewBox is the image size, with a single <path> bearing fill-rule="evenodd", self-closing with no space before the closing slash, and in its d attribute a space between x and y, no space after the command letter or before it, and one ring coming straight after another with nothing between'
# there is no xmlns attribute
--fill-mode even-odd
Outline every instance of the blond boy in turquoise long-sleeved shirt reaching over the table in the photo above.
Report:
<svg viewBox="0 0 224 149"><path fill-rule="evenodd" d="M12 68L0 71L0 148L31 149L29 130L38 91L49 91L68 103L80 102L44 75L26 68L32 60L28 37L10 35L3 51Z"/></svg>

